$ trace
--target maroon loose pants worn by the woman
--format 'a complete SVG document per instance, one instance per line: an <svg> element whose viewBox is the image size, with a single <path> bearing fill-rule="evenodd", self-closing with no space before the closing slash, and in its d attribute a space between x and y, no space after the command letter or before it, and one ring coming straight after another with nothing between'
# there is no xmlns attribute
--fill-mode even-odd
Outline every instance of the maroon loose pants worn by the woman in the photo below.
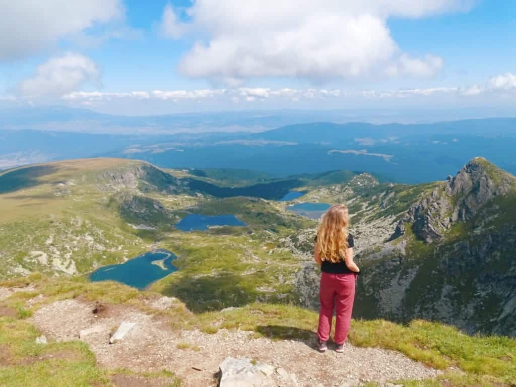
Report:
<svg viewBox="0 0 516 387"><path fill-rule="evenodd" d="M321 273L319 288L319 327L317 336L320 341L330 338L333 310L336 312L335 337L336 344L344 344L351 325L354 292L357 275Z"/></svg>

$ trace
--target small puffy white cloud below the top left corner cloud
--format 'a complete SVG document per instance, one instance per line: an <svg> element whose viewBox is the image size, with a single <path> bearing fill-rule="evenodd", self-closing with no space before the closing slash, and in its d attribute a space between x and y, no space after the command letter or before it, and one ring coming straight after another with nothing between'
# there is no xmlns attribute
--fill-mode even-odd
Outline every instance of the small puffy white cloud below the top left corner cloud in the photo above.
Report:
<svg viewBox="0 0 516 387"><path fill-rule="evenodd" d="M51 58L40 65L36 74L19 86L27 96L59 96L72 92L86 83L100 85L101 73L95 62L75 53Z"/></svg>

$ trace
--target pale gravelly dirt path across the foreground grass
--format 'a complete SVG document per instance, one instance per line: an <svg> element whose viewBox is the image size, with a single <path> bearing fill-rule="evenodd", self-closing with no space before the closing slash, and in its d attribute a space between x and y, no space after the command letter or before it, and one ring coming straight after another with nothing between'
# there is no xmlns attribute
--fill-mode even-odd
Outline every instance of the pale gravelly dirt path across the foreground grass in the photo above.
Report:
<svg viewBox="0 0 516 387"><path fill-rule="evenodd" d="M32 319L51 340L57 341L77 340L80 330L98 327L99 332L82 340L88 343L102 366L138 372L167 369L183 378L183 385L188 387L216 385L214 374L228 356L282 367L288 374L294 374L297 385L303 387L339 385L346 378L384 382L436 376L436 370L394 351L348 346L343 354L334 351L321 354L313 349L312 342L252 338L250 332L238 330L220 330L217 334L172 331L165 320L133 308L108 307L95 317L93 307L93 303L78 300L58 301L38 310ZM136 322L136 326L123 341L108 344L110 334L122 321ZM279 381L278 385L296 384Z"/></svg>

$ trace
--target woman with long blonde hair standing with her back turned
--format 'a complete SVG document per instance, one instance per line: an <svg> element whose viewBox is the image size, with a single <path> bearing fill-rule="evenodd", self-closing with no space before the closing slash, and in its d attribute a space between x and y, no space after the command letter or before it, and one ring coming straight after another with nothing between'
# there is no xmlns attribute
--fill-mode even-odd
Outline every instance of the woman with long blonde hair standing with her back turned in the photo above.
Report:
<svg viewBox="0 0 516 387"><path fill-rule="evenodd" d="M315 237L315 262L321 268L319 288L318 349L325 352L336 311L335 350L343 352L351 324L351 312L359 267L353 262L353 236L348 233L349 213L344 204L333 205L322 216Z"/></svg>

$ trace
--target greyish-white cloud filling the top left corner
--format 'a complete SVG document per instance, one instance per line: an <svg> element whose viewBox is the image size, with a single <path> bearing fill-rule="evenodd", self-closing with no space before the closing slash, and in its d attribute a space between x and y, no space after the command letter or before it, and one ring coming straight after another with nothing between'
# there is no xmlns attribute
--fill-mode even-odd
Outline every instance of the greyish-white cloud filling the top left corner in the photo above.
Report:
<svg viewBox="0 0 516 387"><path fill-rule="evenodd" d="M0 1L0 61L38 53L123 12L121 0Z"/></svg>

